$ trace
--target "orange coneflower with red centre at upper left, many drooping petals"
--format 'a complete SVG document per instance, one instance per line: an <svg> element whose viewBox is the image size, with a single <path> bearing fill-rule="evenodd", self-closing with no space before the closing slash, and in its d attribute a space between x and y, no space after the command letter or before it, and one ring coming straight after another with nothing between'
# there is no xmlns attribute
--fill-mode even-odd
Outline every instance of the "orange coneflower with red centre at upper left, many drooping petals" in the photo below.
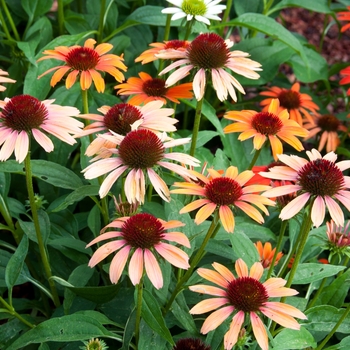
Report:
<svg viewBox="0 0 350 350"><path fill-rule="evenodd" d="M38 61L56 59L63 61L65 64L47 70L38 79L52 71L56 71L50 83L53 87L68 73L66 88L70 89L78 75L80 75L82 90L89 89L92 82L94 82L98 92L105 91L105 81L98 71L109 73L117 81L122 82L124 75L120 70L124 72L127 70L127 67L122 62L123 58L113 54L106 54L113 49L113 45L103 43L94 48L95 44L96 41L94 39L87 39L84 46L58 46L54 50L45 50L43 54L46 56L39 58Z"/></svg>

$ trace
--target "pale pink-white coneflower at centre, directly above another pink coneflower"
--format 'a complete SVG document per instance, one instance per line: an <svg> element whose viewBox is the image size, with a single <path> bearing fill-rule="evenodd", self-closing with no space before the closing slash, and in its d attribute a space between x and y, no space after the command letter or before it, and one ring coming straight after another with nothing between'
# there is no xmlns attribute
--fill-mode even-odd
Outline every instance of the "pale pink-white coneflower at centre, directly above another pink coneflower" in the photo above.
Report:
<svg viewBox="0 0 350 350"><path fill-rule="evenodd" d="M165 153L166 149L183 145L190 141L189 138L166 141L154 132L146 129L138 129L129 132L126 136L118 134L100 135L116 145L107 151L113 153L113 157L99 159L83 170L86 179L94 179L101 175L110 174L104 179L100 187L100 197L105 197L118 178L128 172L124 190L129 203L144 202L145 197L145 173L153 185L155 191L165 201L170 200L170 192L164 180L156 173L155 169L163 167L180 176L190 176L189 170L181 165L166 161L177 161L182 164L198 166L199 160L187 154L179 152ZM94 159L93 159L94 160Z"/></svg>

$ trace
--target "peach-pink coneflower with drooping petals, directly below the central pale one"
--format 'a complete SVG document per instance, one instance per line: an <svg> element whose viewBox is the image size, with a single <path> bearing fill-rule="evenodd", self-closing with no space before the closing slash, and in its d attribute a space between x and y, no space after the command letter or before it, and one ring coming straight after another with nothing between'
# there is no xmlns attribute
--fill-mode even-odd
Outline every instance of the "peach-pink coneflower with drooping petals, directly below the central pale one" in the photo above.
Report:
<svg viewBox="0 0 350 350"><path fill-rule="evenodd" d="M140 213L131 217L123 217L112 221L101 230L101 235L91 241L86 247L113 239L99 247L89 261L89 266L94 267L110 254L118 251L111 261L109 276L112 283L118 283L129 255L129 278L133 285L139 284L140 279L146 274L155 288L163 286L162 271L157 257L161 256L170 264L188 269L188 255L169 243L171 241L190 247L190 242L181 232L166 232L169 229L184 226L181 221L164 221L147 213ZM113 228L114 231L105 232Z"/></svg>

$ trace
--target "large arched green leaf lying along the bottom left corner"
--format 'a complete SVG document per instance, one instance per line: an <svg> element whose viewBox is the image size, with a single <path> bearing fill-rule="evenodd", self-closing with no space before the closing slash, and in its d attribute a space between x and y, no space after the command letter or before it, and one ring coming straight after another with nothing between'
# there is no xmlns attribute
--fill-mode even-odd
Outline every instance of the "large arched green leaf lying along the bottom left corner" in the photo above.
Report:
<svg viewBox="0 0 350 350"><path fill-rule="evenodd" d="M82 314L73 314L55 317L38 324L13 342L7 350L23 349L32 343L69 342L88 340L95 337L107 337L121 341L118 335L108 331L94 318Z"/></svg>

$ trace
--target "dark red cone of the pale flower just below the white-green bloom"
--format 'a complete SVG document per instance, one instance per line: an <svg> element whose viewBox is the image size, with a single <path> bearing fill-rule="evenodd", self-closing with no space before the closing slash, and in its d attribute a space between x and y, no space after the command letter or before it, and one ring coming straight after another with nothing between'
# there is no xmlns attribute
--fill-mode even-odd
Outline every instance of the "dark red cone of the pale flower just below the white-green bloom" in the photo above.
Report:
<svg viewBox="0 0 350 350"><path fill-rule="evenodd" d="M230 58L230 51L219 35L200 34L188 48L188 59L195 67L203 69L222 68Z"/></svg>

